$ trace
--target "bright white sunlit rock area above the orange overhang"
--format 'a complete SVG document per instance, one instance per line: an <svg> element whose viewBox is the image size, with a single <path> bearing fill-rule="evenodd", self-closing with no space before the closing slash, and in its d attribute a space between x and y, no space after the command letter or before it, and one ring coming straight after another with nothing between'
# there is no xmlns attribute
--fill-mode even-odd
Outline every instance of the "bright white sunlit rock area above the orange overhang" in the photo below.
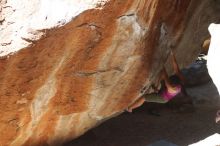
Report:
<svg viewBox="0 0 220 146"><path fill-rule="evenodd" d="M38 40L45 29L59 27L107 0L1 0L0 56Z"/></svg>

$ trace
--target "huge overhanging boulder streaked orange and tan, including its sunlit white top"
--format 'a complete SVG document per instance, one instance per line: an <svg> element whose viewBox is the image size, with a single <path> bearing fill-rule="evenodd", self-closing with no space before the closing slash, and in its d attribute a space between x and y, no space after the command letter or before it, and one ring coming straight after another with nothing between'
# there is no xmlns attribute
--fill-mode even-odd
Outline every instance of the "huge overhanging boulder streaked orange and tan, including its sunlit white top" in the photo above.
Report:
<svg viewBox="0 0 220 146"><path fill-rule="evenodd" d="M0 145L59 145L120 114L172 73L171 49L191 63L220 17L214 0L21 3L1 1Z"/></svg>

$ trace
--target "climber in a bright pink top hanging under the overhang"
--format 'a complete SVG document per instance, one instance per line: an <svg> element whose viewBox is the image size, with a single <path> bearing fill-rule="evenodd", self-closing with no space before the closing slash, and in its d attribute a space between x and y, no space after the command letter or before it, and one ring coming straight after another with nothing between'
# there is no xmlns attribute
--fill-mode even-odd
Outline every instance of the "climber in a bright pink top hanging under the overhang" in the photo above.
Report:
<svg viewBox="0 0 220 146"><path fill-rule="evenodd" d="M132 112L133 109L141 106L145 101L146 102L155 102L155 103L167 103L169 100L173 99L179 93L183 92L186 94L183 84L185 83L185 79L183 75L180 73L180 69L178 67L176 58L171 51L172 64L175 71L175 75L172 76L172 81L177 82L173 83L170 81L166 69L163 68L161 72L161 80L164 81L164 86L158 91L158 93L145 94L139 99L137 99L133 104L131 104L128 108L128 112Z"/></svg>

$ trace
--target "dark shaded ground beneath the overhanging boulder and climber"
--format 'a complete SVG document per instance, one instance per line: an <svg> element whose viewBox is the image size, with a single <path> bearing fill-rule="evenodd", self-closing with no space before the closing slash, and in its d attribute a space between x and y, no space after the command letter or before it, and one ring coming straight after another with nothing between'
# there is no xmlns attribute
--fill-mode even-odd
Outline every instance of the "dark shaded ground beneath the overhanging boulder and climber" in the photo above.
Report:
<svg viewBox="0 0 220 146"><path fill-rule="evenodd" d="M66 146L147 146L167 140L179 146L195 143L220 132L215 123L217 107L196 107L193 112L177 112L160 107L160 116L149 114L148 106L124 113Z"/></svg>

